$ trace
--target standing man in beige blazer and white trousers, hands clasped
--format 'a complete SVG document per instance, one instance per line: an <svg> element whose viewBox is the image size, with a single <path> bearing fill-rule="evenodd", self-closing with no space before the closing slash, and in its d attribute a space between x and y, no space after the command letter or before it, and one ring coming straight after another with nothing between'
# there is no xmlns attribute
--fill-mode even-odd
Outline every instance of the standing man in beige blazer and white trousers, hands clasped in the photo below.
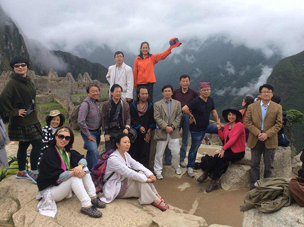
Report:
<svg viewBox="0 0 304 227"><path fill-rule="evenodd" d="M179 123L181 120L180 102L171 98L173 87L162 88L164 98L154 103L154 119L157 124L154 139L157 141L154 161L154 172L157 179L163 179L163 155L168 145L172 153L172 164L176 174L179 169Z"/></svg>

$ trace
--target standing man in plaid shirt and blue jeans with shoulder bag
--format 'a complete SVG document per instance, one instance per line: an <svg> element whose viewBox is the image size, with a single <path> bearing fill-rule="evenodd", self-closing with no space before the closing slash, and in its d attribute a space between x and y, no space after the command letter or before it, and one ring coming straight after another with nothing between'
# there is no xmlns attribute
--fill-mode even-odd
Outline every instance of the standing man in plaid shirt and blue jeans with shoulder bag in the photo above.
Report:
<svg viewBox="0 0 304 227"><path fill-rule="evenodd" d="M81 136L88 148L86 160L88 168L91 168L98 162L98 145L100 143L100 108L98 105L100 89L96 84L90 84L87 87L88 96L81 103L78 113L78 125L81 130Z"/></svg>

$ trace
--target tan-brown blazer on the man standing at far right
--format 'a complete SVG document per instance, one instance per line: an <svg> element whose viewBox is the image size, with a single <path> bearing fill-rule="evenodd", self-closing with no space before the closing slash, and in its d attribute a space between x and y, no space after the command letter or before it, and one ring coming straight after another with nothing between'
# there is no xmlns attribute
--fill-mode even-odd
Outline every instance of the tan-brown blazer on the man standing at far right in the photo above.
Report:
<svg viewBox="0 0 304 227"><path fill-rule="evenodd" d="M261 132L262 111L260 102L252 103L248 106L245 123L250 131L247 146L253 148L257 142L257 135ZM278 147L278 132L282 127L282 106L271 101L264 117L263 132L267 133L265 146L268 149Z"/></svg>

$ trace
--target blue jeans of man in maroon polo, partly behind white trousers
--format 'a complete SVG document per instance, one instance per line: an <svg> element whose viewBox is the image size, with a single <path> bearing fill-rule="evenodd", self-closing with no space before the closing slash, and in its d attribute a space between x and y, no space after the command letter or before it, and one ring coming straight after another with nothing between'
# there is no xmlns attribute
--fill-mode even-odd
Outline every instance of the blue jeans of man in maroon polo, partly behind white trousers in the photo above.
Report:
<svg viewBox="0 0 304 227"><path fill-rule="evenodd" d="M180 162L184 162L185 157L186 157L187 146L188 146L188 141L189 141L189 136L190 136L189 121L190 121L190 118L185 113L182 113L181 120L179 123L179 131L182 128L182 143L181 143L180 152L179 152ZM165 162L170 164L171 159L172 159L171 150L168 148L168 146L166 146Z"/></svg>

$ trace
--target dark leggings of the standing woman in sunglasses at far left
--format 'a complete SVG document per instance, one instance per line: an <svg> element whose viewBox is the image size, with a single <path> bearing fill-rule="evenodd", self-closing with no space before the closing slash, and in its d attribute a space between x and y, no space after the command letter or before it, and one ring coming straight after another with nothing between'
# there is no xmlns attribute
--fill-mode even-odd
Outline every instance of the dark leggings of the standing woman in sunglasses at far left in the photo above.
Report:
<svg viewBox="0 0 304 227"><path fill-rule="evenodd" d="M26 164L26 150L32 144L32 149L30 152L30 169L37 170L37 163L41 153L41 148L43 147L42 139L37 139L33 141L19 142L18 152L17 152L17 161L18 169L20 171L25 170Z"/></svg>

